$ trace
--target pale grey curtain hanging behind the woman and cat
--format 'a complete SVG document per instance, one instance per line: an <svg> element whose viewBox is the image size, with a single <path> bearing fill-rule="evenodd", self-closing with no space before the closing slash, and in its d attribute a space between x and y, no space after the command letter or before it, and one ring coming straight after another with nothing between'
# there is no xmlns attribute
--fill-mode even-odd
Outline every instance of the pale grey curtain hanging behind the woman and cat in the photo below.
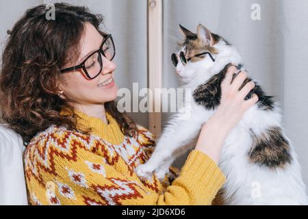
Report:
<svg viewBox="0 0 308 219"><path fill-rule="evenodd" d="M6 29L31 6L55 1L11 0L1 3L0 40ZM146 0L71 0L105 16L105 27L116 41L116 81L121 88L147 86ZM260 6L261 20L251 19L251 5ZM179 86L170 54L181 40L178 24L192 31L202 23L237 47L243 64L282 108L283 123L291 138L308 185L308 1L305 0L164 0L165 88ZM168 120L170 114L164 114ZM142 125L148 114L134 113ZM176 162L181 166L184 157Z"/></svg>

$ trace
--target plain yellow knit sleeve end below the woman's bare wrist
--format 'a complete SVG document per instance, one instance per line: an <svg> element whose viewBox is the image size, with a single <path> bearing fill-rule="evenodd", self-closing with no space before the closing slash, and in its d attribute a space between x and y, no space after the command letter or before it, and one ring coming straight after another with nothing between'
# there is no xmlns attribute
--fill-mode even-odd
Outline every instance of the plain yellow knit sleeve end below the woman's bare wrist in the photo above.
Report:
<svg viewBox="0 0 308 219"><path fill-rule="evenodd" d="M157 205L211 205L225 177L215 162L201 151L188 155L181 173Z"/></svg>

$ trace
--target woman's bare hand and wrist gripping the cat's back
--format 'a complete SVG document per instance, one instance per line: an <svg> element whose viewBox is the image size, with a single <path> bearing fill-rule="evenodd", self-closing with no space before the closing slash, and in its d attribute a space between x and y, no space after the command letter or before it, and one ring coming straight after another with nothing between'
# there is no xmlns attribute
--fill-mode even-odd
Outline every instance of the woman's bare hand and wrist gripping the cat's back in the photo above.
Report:
<svg viewBox="0 0 308 219"><path fill-rule="evenodd" d="M258 101L256 94L253 94L251 99L244 100L245 96L255 88L253 81L246 83L239 91L247 78L246 72L240 72L231 83L236 70L235 66L228 68L226 77L221 84L220 105L215 114L203 125L195 148L209 155L216 163L218 163L224 139L240 122L244 112Z"/></svg>

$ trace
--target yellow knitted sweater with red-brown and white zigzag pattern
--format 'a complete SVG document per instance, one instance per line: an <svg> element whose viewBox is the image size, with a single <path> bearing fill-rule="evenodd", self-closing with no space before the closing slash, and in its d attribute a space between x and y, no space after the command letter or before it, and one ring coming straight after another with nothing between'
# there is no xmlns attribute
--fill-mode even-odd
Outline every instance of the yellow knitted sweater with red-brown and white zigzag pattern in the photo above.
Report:
<svg viewBox="0 0 308 219"><path fill-rule="evenodd" d="M53 125L27 146L32 205L210 205L224 183L218 166L196 150L165 181L139 179L134 169L151 156L154 136L140 125L136 138L124 136L110 114L106 124L76 113L77 127L92 127L90 134Z"/></svg>

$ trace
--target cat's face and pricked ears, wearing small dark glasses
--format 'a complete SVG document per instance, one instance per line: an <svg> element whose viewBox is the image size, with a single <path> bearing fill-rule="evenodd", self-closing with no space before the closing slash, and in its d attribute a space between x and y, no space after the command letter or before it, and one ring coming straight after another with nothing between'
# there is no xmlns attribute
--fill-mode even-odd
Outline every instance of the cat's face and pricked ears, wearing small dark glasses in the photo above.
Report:
<svg viewBox="0 0 308 219"><path fill-rule="evenodd" d="M180 50L177 54L177 66L176 73L179 78L184 82L188 83L198 73L198 71L205 71L214 65L214 60L211 59L209 54L195 56L201 53L210 53L212 57L216 57L218 51L214 48L214 44L217 43L217 36L212 35L211 32L203 25L198 25L197 33L194 34L185 27L181 27L181 32L185 39L179 43ZM183 64L179 57L179 53L183 51L186 60L191 58L187 63Z"/></svg>

